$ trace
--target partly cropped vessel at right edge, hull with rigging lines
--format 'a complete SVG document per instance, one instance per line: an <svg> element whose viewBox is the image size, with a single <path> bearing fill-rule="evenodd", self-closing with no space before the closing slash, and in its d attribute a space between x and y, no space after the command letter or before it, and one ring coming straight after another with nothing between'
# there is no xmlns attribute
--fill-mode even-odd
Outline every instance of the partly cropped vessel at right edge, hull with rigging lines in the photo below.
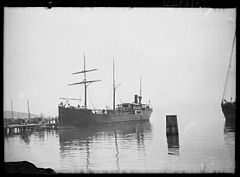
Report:
<svg viewBox="0 0 240 177"><path fill-rule="evenodd" d="M233 39L232 51L231 51L231 56L230 56L230 60L229 60L227 77L226 77L226 81L225 81L225 87L224 87L223 97L222 97L222 102L221 102L222 112L225 116L226 121L235 121L235 119L236 119L236 98L232 98L232 95L230 97L230 100L227 100L227 98L225 98L226 97L226 88L230 81L229 75L231 72L235 71L234 68L232 67L232 54L233 54L235 40L236 40L236 33L235 33L234 39ZM234 81L232 81L232 83L230 83L230 84L233 88Z"/></svg>

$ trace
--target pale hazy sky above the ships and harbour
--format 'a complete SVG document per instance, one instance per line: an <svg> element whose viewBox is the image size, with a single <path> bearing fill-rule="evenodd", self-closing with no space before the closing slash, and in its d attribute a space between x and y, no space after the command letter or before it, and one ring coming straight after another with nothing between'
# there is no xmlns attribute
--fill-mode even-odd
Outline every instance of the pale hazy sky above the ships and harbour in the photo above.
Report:
<svg viewBox="0 0 240 177"><path fill-rule="evenodd" d="M86 56L90 108L142 102L154 110L220 105L236 9L4 8L4 110L57 116L59 97L81 98ZM234 47L233 61L236 61ZM230 75L234 78L235 75ZM74 103L72 103L74 104Z"/></svg>

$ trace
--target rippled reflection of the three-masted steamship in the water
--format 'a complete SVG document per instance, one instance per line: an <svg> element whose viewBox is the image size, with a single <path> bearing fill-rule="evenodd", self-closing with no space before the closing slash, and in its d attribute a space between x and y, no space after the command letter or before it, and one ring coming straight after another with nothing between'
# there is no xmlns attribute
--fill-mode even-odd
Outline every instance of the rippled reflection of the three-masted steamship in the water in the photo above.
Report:
<svg viewBox="0 0 240 177"><path fill-rule="evenodd" d="M113 158L115 159L115 168L116 170L120 170L121 148L119 148L119 144L124 144L126 140L136 142L136 149L145 154L145 138L151 139L150 122L114 123L71 128L63 127L59 130L60 153L65 154L63 155L63 157L65 157L65 152L69 150L77 149L84 151L86 154L86 159L84 160L86 162L86 170L89 170L89 166L91 165L90 153L94 152L95 148L93 143L99 139L103 139L103 141L113 140L110 141L110 143L114 147L115 154ZM92 161L94 161L94 159Z"/></svg>

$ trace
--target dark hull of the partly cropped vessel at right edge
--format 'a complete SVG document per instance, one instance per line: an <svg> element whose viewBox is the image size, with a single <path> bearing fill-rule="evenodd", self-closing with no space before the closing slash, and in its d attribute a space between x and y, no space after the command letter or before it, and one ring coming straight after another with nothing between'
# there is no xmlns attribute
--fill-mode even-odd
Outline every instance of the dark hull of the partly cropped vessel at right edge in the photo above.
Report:
<svg viewBox="0 0 240 177"><path fill-rule="evenodd" d="M222 103L222 111L227 121L234 121L236 119L236 104Z"/></svg>

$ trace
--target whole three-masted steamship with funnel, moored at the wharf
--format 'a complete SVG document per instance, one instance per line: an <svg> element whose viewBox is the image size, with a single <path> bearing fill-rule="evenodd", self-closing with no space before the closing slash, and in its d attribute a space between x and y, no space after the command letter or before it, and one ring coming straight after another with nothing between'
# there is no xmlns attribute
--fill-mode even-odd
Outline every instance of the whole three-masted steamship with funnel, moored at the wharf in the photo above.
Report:
<svg viewBox="0 0 240 177"><path fill-rule="evenodd" d="M130 122L130 121L149 121L153 109L149 104L143 104L141 102L141 78L140 78L140 95L134 95L134 101L132 103L121 103L115 108L115 91L119 86L115 86L114 79L114 61L113 61L113 107L112 109L90 109L87 107L87 86L93 82L100 80L86 80L86 73L95 71L97 69L85 69L85 55L84 55L84 69L80 72L72 74L84 74L84 80L78 83L72 83L69 85L84 85L84 106L71 106L69 100L79 100L71 98L60 98L65 100L65 103L61 102L58 105L58 119L61 126L79 126L87 124L99 124L99 123L113 123L113 122Z"/></svg>

